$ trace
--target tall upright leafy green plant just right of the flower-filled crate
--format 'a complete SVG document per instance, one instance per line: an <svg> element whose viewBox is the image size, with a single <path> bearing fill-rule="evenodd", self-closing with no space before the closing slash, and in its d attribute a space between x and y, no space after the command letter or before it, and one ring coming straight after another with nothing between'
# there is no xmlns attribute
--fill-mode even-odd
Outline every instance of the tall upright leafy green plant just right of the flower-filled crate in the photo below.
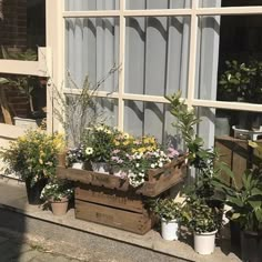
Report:
<svg viewBox="0 0 262 262"><path fill-rule="evenodd" d="M214 194L213 177L220 172L214 164L219 155L214 150L204 149L203 139L195 134L194 125L201 120L195 115L194 109L189 109L185 101L181 99L181 92L167 99L170 101L170 112L177 118L174 125L181 131L188 148L189 165L198 171L195 183L188 187L185 193L191 199L210 199Z"/></svg>

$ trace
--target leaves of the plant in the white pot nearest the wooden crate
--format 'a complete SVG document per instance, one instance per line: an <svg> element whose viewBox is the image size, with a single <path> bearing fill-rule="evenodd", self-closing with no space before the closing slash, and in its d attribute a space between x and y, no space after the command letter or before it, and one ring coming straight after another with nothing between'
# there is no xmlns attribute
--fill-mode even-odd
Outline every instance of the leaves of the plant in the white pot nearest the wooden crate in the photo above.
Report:
<svg viewBox="0 0 262 262"><path fill-rule="evenodd" d="M182 205L173 199L157 199L150 203L150 209L167 222L181 219Z"/></svg>

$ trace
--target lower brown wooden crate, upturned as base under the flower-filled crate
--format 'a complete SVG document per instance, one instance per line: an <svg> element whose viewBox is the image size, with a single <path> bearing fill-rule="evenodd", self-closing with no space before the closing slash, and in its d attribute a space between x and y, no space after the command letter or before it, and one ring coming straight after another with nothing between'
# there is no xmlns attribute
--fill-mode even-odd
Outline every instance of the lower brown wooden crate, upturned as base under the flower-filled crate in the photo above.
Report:
<svg viewBox="0 0 262 262"><path fill-rule="evenodd" d="M155 222L142 195L78 183L74 198L77 219L137 234L145 234Z"/></svg>

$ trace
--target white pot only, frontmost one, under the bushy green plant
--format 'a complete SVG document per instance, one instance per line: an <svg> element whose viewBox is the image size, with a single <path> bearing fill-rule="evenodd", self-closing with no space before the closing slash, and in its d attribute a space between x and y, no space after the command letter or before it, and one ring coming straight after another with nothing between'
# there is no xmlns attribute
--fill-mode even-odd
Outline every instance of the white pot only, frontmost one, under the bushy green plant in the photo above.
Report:
<svg viewBox="0 0 262 262"><path fill-rule="evenodd" d="M194 251L200 254L213 253L216 232L218 230L204 233L194 232Z"/></svg>

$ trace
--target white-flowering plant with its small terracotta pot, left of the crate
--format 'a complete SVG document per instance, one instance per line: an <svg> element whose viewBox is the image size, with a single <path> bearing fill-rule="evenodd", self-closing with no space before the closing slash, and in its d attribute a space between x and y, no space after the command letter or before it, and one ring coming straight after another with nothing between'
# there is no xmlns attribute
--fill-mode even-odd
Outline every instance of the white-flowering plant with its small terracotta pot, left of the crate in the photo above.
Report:
<svg viewBox="0 0 262 262"><path fill-rule="evenodd" d="M66 180L52 180L43 188L41 199L51 204L54 215L64 215L72 194L73 189L70 182Z"/></svg>

